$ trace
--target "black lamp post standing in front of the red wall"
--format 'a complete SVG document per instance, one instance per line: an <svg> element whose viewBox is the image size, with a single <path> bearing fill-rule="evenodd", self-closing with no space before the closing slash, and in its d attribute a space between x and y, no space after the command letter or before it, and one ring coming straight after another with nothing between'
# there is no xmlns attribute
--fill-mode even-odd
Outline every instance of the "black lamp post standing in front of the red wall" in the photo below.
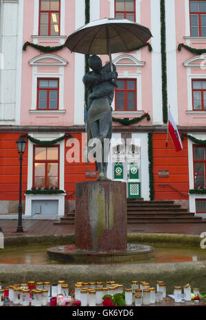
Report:
<svg viewBox="0 0 206 320"><path fill-rule="evenodd" d="M23 232L23 226L22 226L22 204L21 204L21 184L22 184L22 161L23 161L23 153L25 151L26 147L26 140L23 138L23 134L19 137L19 140L16 141L16 146L19 153L19 161L20 161L20 174L19 174L19 217L18 217L18 227L16 229L16 232Z"/></svg>

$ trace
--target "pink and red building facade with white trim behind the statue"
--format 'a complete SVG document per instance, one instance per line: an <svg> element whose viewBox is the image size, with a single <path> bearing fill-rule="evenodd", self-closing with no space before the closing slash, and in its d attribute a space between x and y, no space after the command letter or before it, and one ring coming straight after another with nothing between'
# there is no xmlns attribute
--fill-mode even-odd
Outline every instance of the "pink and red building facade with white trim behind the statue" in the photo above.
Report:
<svg viewBox="0 0 206 320"><path fill-rule="evenodd" d="M95 179L95 166L84 162L82 151L79 162L68 161L71 140L59 140L50 148L38 145L37 140L71 134L80 142L76 150L82 150L86 132L85 56L71 53L63 45L88 19L104 17L130 19L152 33L152 51L146 45L112 55L119 87L112 103L115 119L108 177L127 182L128 198L172 199L204 217L206 193L188 191L204 190L206 185L206 53L187 50L206 48L203 0L1 0L0 213L16 212L19 169L15 141L20 133L36 139L27 142L24 191L37 187L65 191L53 195L23 193L25 215L47 213L48 202L50 213L53 208L54 214L64 215L75 199L75 183ZM179 51L182 43L187 47L181 45ZM46 51L43 47L59 48ZM101 58L103 63L108 61L108 56ZM176 152L169 138L165 147L164 114L167 116L169 106L180 134L202 143L186 137L183 150ZM134 118L138 122L125 125L126 119ZM128 139L127 158L122 139ZM117 153L120 158L115 162ZM167 176L161 174L165 171Z"/></svg>

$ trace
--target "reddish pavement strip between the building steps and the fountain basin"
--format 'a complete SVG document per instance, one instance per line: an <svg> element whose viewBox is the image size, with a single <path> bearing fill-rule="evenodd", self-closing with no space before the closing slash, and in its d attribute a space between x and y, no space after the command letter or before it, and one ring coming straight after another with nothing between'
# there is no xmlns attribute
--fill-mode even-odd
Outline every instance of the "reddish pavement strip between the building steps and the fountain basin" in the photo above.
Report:
<svg viewBox="0 0 206 320"><path fill-rule="evenodd" d="M17 220L0 220L4 237L16 235L66 235L73 234L73 225L56 225L55 220L23 220L23 233L16 233ZM200 235L206 232L206 224L129 224L128 233L173 233Z"/></svg>

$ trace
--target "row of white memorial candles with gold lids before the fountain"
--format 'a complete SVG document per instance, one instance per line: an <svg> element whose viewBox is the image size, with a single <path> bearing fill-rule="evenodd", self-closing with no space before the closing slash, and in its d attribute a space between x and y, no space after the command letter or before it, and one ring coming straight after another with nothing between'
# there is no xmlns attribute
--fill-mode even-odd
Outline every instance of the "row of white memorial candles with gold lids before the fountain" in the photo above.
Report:
<svg viewBox="0 0 206 320"><path fill-rule="evenodd" d="M191 286L187 284L183 288L185 301L191 301ZM126 306L150 305L151 303L161 302L166 298L166 286L163 281L157 281L157 287L150 287L146 281L132 281L130 288L123 289L122 284L115 281L107 281L106 286L103 282L77 282L75 284L74 298L80 301L81 306L96 306L102 303L104 295L115 295L125 292ZM199 294L198 289L194 289L195 295ZM174 301L182 301L181 286L174 286ZM14 284L13 286L1 289L0 284L0 306L3 306L4 297L14 304L22 306L50 306L67 305L71 306L73 298L69 296L69 286L65 281L58 281L55 284L50 282L29 281L27 284ZM54 302L54 304L53 304Z"/></svg>

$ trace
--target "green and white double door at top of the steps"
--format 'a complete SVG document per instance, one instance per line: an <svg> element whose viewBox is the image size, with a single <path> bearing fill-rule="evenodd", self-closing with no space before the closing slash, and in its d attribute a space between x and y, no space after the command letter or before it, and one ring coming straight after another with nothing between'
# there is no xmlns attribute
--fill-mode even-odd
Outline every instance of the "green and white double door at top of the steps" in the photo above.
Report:
<svg viewBox="0 0 206 320"><path fill-rule="evenodd" d="M113 179L126 182L127 198L141 198L141 182L137 162L114 162Z"/></svg>

